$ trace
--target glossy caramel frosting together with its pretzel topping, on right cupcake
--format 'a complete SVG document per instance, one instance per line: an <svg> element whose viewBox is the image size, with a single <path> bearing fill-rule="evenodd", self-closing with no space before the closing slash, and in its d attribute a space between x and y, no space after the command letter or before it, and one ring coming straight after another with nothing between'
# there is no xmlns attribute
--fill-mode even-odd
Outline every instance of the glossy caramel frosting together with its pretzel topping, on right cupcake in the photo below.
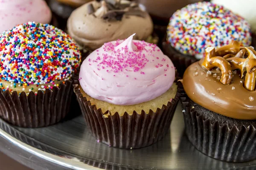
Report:
<svg viewBox="0 0 256 170"><path fill-rule="evenodd" d="M190 65L183 87L192 101L235 119L256 119L256 51L233 41L208 47L206 56Z"/></svg>

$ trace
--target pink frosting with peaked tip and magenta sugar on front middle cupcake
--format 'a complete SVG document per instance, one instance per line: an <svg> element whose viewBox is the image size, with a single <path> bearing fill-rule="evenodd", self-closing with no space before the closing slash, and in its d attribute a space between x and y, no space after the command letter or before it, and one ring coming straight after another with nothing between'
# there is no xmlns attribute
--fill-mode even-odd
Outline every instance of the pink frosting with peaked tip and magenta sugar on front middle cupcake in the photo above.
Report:
<svg viewBox="0 0 256 170"><path fill-rule="evenodd" d="M115 105L135 105L172 86L172 61L157 45L133 40L134 35L105 43L84 60L79 82L85 93Z"/></svg>

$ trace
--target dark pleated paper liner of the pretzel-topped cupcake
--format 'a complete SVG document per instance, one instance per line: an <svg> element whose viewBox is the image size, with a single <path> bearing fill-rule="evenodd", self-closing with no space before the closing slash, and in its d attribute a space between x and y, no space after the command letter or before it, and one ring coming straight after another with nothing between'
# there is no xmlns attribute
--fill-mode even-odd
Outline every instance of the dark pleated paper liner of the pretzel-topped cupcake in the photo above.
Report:
<svg viewBox="0 0 256 170"><path fill-rule="evenodd" d="M221 161L256 159L255 125L242 125L239 129L236 125L229 127L227 122L206 119L206 113L193 108L189 102L192 102L189 98L181 98L186 135L199 151Z"/></svg>

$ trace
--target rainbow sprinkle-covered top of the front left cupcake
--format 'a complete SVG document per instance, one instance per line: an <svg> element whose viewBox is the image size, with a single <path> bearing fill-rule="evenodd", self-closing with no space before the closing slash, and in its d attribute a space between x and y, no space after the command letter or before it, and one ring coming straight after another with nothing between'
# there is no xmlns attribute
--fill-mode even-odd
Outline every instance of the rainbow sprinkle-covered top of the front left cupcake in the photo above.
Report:
<svg viewBox="0 0 256 170"><path fill-rule="evenodd" d="M54 26L29 22L0 34L0 80L14 88L65 81L80 62L76 43Z"/></svg>

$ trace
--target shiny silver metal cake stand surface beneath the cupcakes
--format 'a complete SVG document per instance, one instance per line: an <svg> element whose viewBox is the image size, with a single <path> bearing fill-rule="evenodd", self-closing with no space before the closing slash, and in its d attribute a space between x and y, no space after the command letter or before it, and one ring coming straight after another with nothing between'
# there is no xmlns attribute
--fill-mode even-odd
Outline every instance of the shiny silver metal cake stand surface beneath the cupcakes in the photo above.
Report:
<svg viewBox="0 0 256 170"><path fill-rule="evenodd" d="M0 151L36 170L256 169L256 160L228 163L205 156L190 144L183 131L180 105L162 140L134 150L98 143L82 116L35 129L15 127L0 120Z"/></svg>

